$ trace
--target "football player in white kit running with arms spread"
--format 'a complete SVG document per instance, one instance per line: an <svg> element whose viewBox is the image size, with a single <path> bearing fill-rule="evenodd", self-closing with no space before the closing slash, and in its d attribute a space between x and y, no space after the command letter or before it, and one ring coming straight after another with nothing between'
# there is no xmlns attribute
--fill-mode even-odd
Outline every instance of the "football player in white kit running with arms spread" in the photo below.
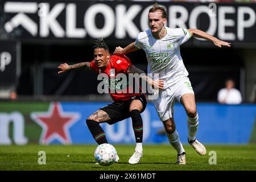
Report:
<svg viewBox="0 0 256 182"><path fill-rule="evenodd" d="M167 11L157 4L148 11L150 29L140 32L135 42L125 48L115 48L117 55L143 49L147 55L148 72L159 74L164 80L164 89L159 91L159 97L154 100L155 109L163 122L167 137L177 151L176 164L185 164L185 150L180 142L174 122L174 103L177 99L187 113L188 143L200 155L206 154L203 144L196 139L199 117L196 110L195 95L188 78L188 72L180 56L180 45L187 42L191 36L210 40L216 46L228 46L230 43L197 29L168 28Z"/></svg>

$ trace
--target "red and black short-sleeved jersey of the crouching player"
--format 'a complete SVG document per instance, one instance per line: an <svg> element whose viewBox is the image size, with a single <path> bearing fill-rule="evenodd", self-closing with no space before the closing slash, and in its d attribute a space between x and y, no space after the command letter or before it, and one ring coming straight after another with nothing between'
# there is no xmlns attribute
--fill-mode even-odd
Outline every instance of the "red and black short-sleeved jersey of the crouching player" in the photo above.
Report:
<svg viewBox="0 0 256 182"><path fill-rule="evenodd" d="M129 84L127 69L131 65L131 61L128 57L116 55L110 56L110 62L105 69L98 68L95 60L91 61L90 63L90 67L96 71L96 73L101 74L102 81L104 81L105 85L108 86L110 96L114 101L126 101L130 100L130 98L133 96L141 95L141 88L139 88L139 93L134 93L133 85ZM118 75L119 73L123 74ZM121 77L125 75L127 81L124 84Z"/></svg>

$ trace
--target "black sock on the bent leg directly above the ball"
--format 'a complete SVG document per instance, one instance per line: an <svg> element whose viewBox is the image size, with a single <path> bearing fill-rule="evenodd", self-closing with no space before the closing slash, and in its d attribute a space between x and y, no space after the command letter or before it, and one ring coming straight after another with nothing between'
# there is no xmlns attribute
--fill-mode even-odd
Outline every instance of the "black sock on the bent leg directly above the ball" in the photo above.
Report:
<svg viewBox="0 0 256 182"><path fill-rule="evenodd" d="M92 133L94 140L96 140L98 144L109 143L106 139L105 132L102 130L102 127L98 122L86 119L86 124L90 130L90 133Z"/></svg>

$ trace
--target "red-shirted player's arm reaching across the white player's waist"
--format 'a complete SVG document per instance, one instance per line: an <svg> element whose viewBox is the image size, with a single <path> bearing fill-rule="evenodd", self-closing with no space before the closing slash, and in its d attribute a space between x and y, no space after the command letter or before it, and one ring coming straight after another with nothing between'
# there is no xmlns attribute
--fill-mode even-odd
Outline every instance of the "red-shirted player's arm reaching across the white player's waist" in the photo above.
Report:
<svg viewBox="0 0 256 182"><path fill-rule="evenodd" d="M141 69L134 67L134 65L131 65L127 71L127 73L138 73L139 77L141 77L143 80L147 81L148 84L152 86L154 89L160 89L163 90L164 87L164 81L163 80L152 80L150 77L146 75L145 72L143 72Z"/></svg>

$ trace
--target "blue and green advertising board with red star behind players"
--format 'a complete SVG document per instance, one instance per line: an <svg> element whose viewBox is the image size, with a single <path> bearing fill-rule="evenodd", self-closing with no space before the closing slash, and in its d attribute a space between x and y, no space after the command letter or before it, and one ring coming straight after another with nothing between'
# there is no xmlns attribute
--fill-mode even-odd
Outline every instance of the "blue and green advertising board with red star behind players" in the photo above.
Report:
<svg viewBox="0 0 256 182"><path fill-rule="evenodd" d="M18 102L1 103L0 144L95 144L85 119L107 102ZM256 142L255 105L197 104L200 130L197 137L207 144ZM242 113L242 114L241 114ZM152 103L142 113L143 143L168 143ZM175 106L180 140L187 143L187 116ZM135 143L131 119L115 125L101 124L110 143Z"/></svg>

